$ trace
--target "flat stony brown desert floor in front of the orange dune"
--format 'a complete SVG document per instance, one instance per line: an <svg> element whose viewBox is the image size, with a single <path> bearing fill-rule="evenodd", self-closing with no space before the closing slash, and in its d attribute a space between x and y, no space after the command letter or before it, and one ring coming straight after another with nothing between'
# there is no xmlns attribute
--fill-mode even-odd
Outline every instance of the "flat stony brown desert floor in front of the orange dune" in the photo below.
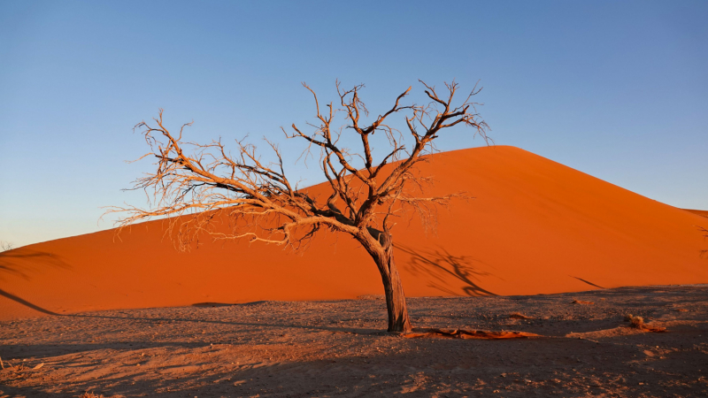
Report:
<svg viewBox="0 0 708 398"><path fill-rule="evenodd" d="M31 318L0 323L0 396L708 396L705 285L409 307L417 327L543 337L405 339L382 332L378 297Z"/></svg>

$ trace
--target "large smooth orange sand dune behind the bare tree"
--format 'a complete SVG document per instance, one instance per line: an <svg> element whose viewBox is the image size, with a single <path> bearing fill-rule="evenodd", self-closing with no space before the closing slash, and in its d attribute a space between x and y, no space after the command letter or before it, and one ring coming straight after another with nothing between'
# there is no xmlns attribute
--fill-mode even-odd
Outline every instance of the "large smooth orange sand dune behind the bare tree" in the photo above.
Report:
<svg viewBox="0 0 708 398"><path fill-rule="evenodd" d="M437 154L429 194L476 199L440 212L437 235L394 229L409 296L533 295L708 282L708 218L658 203L513 147ZM315 187L314 189L321 189ZM0 254L0 319L198 302L329 300L382 293L363 249L323 234L304 253L246 242L190 253L161 222L47 241Z"/></svg>

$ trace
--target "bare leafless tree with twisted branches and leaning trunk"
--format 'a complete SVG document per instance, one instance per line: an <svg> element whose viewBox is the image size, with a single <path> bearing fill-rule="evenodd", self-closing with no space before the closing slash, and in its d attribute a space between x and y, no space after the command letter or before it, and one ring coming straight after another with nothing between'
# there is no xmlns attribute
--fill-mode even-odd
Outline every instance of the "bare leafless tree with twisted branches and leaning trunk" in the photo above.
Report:
<svg viewBox="0 0 708 398"><path fill-rule="evenodd" d="M404 288L394 262L393 218L413 210L426 226L432 226L435 206L447 205L451 198L463 195L423 197L420 187L430 179L415 175L414 165L434 150L434 140L446 128L469 126L485 141L489 128L475 110L477 103L472 102L479 93L476 87L455 105L456 82L445 83L444 96L435 87L420 83L429 103L402 104L411 91L408 88L388 111L370 122L364 121L368 111L359 98L364 85L343 90L337 82L339 103L327 103L322 109L315 92L303 83L314 97L317 122L308 123L312 127L309 132L296 125L292 125L292 130L282 130L288 138L307 143L305 157L312 149L319 149L319 166L331 188L323 200L290 182L283 171L281 151L273 142L266 141L277 157L275 162L262 162L256 147L243 141L236 142L236 155L232 156L220 140L208 144L183 142L184 127L191 123L172 134L165 127L160 110L154 124L143 121L135 126L150 144L150 153L143 157L156 157L158 161L157 171L135 180L134 188L145 189L155 202L148 210L128 206L109 212L127 212L127 217L119 220L121 227L154 217L191 213L186 220L169 218L168 230L181 249L189 249L200 233L216 239L244 238L295 249L306 246L323 229L348 233L372 256L381 272L389 332L410 332ZM338 112L345 116L343 127L332 126ZM387 124L389 117L399 113L404 115L401 121L408 129L406 134ZM359 151L340 143L342 134L347 132L358 135ZM381 160L374 162L370 137L377 132L388 137L390 146ZM404 135L409 134L412 146L407 149ZM217 218L225 216L229 220L227 233L213 226Z"/></svg>

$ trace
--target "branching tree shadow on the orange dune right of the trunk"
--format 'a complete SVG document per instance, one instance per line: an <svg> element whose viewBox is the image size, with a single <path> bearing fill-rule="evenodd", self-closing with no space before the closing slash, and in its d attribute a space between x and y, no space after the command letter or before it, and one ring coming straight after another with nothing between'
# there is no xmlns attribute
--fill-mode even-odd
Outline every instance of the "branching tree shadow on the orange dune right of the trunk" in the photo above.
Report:
<svg viewBox="0 0 708 398"><path fill-rule="evenodd" d="M491 272L482 271L483 263L472 256L453 256L443 248L435 250L414 250L405 246L396 245L396 249L411 256L404 265L414 275L427 276L430 280L429 287L433 287L448 295L489 296L496 295L483 288L479 280L484 277L494 276ZM462 294L453 291L448 279L454 278L463 282Z"/></svg>

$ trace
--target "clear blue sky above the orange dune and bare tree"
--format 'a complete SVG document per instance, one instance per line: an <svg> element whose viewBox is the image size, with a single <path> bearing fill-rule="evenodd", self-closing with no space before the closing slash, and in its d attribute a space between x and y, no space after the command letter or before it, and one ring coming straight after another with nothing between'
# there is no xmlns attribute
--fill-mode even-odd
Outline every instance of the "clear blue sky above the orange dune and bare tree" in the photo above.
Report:
<svg viewBox="0 0 708 398"><path fill-rule="evenodd" d="M281 142L364 83L373 113L418 80L463 90L513 145L659 202L708 209L708 2L0 1L0 241L113 226L150 161L133 127L165 110L189 140ZM374 115L375 116L375 115ZM441 150L484 145L470 130ZM265 155L267 157L267 155Z"/></svg>

